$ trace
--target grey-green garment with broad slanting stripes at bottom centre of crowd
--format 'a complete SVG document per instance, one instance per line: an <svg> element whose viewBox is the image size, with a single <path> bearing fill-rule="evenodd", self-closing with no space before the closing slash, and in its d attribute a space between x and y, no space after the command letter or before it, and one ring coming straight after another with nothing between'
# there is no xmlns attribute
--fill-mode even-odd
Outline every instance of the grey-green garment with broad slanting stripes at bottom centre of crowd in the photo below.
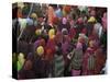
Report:
<svg viewBox="0 0 110 82"><path fill-rule="evenodd" d="M54 77L64 77L64 58L63 55L55 55Z"/></svg>

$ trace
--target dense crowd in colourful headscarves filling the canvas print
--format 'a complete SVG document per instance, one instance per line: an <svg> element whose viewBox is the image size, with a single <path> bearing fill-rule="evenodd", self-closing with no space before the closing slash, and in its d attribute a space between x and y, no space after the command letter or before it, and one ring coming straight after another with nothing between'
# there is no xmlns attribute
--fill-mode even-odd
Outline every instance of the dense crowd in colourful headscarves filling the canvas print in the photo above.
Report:
<svg viewBox="0 0 110 82"><path fill-rule="evenodd" d="M107 8L13 4L13 72L18 79L105 74L107 30Z"/></svg>

